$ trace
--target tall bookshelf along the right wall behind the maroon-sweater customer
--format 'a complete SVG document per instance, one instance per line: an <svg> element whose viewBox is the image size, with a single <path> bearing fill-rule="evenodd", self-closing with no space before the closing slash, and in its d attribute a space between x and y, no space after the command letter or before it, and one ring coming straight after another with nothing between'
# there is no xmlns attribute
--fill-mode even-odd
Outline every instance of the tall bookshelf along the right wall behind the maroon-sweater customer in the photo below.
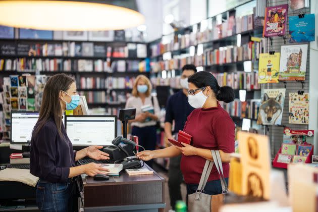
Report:
<svg viewBox="0 0 318 212"><path fill-rule="evenodd" d="M245 16L236 16L236 9L226 11L220 14L222 19L211 17L150 42L153 87L180 89L182 67L193 64L198 71L213 73L220 86L234 89L235 100L220 103L236 126L242 127L244 119L249 119L250 127L254 127L260 106L259 56L268 52L267 39L262 37L262 20L254 15L255 10ZM158 145L161 147L166 146L162 136ZM169 165L165 160L157 163L162 167Z"/></svg>

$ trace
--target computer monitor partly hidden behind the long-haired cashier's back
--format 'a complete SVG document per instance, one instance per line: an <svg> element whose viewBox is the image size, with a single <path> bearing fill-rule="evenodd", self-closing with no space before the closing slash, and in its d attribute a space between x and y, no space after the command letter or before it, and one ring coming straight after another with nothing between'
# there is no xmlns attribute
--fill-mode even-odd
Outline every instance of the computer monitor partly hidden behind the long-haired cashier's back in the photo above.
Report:
<svg viewBox="0 0 318 212"><path fill-rule="evenodd" d="M11 112L11 143L30 143L33 128L39 118L39 112ZM63 115L63 124L65 116Z"/></svg>

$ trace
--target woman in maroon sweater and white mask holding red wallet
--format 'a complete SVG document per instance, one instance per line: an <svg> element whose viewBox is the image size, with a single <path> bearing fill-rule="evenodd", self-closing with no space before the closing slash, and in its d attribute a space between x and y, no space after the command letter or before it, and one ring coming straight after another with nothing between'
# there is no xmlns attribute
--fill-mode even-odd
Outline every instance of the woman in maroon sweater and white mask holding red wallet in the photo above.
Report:
<svg viewBox="0 0 318 212"><path fill-rule="evenodd" d="M187 194L196 191L206 160L213 161L211 149L220 150L224 177L229 177L230 153L234 152L235 125L230 115L218 101L231 102L234 91L229 86L220 87L217 79L209 72L198 72L189 77L189 103L196 108L187 119L184 130L192 135L191 145L170 146L137 154L148 161L158 157L175 157L182 154L181 171L187 184ZM204 193L221 194L222 187L216 167L213 167Z"/></svg>

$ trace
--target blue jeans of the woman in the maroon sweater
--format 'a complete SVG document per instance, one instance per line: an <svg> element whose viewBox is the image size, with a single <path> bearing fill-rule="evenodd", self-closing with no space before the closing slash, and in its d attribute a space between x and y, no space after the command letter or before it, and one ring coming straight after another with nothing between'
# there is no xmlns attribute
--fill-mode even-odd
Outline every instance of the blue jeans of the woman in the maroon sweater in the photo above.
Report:
<svg viewBox="0 0 318 212"><path fill-rule="evenodd" d="M226 183L228 184L229 178L225 178ZM198 184L187 184L187 194L193 194L196 192L196 189L198 189ZM222 194L222 186L220 180L212 180L206 183L204 187L204 192L208 195L216 195L216 194Z"/></svg>

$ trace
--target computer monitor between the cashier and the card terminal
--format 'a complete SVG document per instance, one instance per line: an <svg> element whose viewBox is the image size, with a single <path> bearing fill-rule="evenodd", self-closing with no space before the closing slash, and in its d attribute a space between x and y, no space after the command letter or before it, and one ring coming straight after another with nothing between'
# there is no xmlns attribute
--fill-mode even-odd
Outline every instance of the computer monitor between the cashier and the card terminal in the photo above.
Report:
<svg viewBox="0 0 318 212"><path fill-rule="evenodd" d="M109 146L117 137L117 116L66 116L65 121L74 146Z"/></svg>

